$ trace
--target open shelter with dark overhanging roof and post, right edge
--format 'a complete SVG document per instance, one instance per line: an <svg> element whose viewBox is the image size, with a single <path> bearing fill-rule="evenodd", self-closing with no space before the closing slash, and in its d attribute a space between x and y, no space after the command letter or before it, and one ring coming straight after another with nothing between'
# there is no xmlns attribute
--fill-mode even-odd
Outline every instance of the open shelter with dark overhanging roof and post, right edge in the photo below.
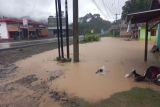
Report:
<svg viewBox="0 0 160 107"><path fill-rule="evenodd" d="M147 61L148 37L149 32L151 32L152 29L156 29L156 45L157 47L160 47L160 0L152 0L151 8L149 11L128 14L127 22L131 22L132 24L145 23L144 60Z"/></svg>

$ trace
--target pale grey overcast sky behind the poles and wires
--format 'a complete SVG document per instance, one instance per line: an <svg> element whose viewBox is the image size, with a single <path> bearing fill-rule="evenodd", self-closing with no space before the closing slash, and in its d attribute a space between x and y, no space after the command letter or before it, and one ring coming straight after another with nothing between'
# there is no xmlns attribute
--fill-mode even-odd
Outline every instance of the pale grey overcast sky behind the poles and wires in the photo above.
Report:
<svg viewBox="0 0 160 107"><path fill-rule="evenodd" d="M62 1L62 10L64 2ZM68 0L69 21L72 22L72 1ZM79 17L87 13L99 13L106 19L113 21L115 14L121 14L126 0L79 0ZM55 15L55 0L0 0L0 15L8 17L30 16L35 20L47 19ZM120 16L119 16L120 17Z"/></svg>

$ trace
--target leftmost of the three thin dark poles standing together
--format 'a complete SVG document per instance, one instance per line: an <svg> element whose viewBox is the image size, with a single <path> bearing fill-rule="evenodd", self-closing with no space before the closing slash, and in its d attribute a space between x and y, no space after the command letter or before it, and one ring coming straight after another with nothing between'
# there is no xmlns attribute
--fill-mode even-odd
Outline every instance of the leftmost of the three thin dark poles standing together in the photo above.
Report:
<svg viewBox="0 0 160 107"><path fill-rule="evenodd" d="M57 0L55 0L55 7L56 7L56 21L57 21L57 39L58 39L58 56L61 58L61 49L60 49L60 38L59 38L59 20L58 20L58 4Z"/></svg>

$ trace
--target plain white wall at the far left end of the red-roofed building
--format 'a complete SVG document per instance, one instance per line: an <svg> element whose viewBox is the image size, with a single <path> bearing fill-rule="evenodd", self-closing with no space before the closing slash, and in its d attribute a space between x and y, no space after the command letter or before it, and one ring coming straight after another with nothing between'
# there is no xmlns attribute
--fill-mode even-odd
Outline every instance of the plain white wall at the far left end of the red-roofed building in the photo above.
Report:
<svg viewBox="0 0 160 107"><path fill-rule="evenodd" d="M7 24L5 22L0 22L0 39L9 39Z"/></svg>

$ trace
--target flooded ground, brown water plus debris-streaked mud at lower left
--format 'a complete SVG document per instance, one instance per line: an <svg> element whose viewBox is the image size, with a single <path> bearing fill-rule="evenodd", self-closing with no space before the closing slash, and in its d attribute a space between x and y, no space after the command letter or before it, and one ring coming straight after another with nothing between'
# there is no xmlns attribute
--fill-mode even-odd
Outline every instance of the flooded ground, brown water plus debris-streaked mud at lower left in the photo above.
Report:
<svg viewBox="0 0 160 107"><path fill-rule="evenodd" d="M149 50L152 46L150 43ZM143 61L143 55L144 41L119 38L80 44L79 63L57 63L57 50L33 55L16 62L18 68L13 75L0 79L0 105L60 107L55 102L57 92L97 102L133 87L160 90L154 84L136 83L133 78L124 77L133 68L143 74L150 65L160 66L159 54L149 52L148 62ZM102 66L105 66L105 74L96 74Z"/></svg>

